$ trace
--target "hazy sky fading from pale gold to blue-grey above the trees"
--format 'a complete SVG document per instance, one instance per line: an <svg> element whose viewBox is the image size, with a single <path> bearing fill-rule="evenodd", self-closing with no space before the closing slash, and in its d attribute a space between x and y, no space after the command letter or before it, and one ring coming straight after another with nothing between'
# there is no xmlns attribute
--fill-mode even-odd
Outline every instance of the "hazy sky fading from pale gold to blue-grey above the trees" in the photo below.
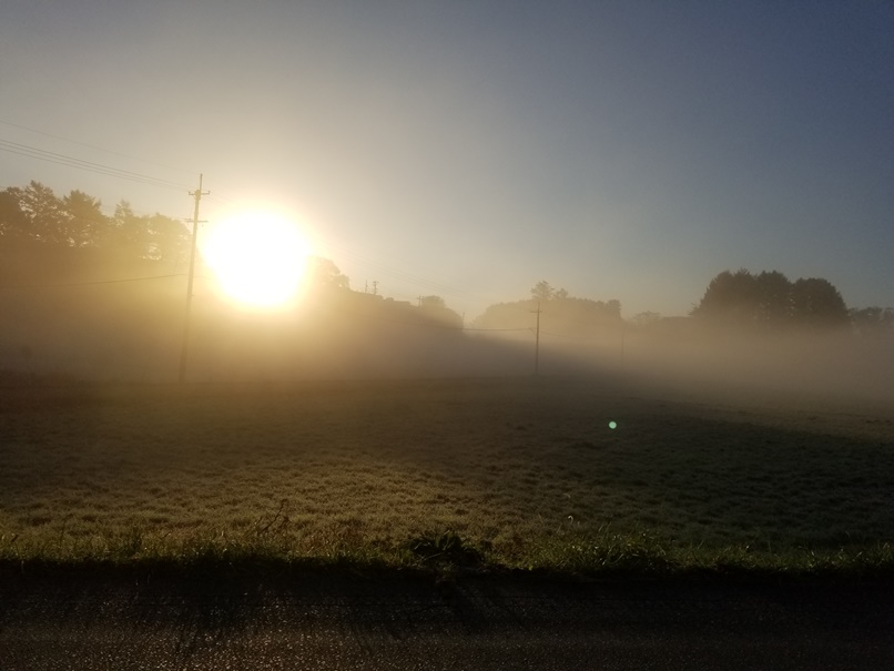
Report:
<svg viewBox="0 0 894 671"><path fill-rule="evenodd" d="M4 0L0 121L182 185L0 151L0 187L184 217L202 172L209 225L287 209L353 288L467 318L539 279L685 314L739 267L894 306L886 0Z"/></svg>

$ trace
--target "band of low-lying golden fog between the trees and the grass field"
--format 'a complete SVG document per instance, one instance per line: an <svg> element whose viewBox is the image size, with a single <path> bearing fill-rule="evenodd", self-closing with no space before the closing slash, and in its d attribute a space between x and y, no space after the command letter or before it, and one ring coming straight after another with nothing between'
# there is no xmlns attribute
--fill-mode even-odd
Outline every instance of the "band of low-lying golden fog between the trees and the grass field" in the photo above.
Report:
<svg viewBox="0 0 894 671"><path fill-rule="evenodd" d="M170 292L112 285L102 296L95 287L69 287L39 301L32 294L2 296L0 369L11 384L44 376L175 382L184 324L181 292L179 284ZM688 392L722 385L894 400L890 332L748 333L671 318L648 325L607 321L586 337L571 337L550 331L543 315L536 356L535 331L532 314L529 329L464 331L444 315L353 292L307 301L286 314L196 301L186 379L529 376L537 358L547 376L653 382Z"/></svg>

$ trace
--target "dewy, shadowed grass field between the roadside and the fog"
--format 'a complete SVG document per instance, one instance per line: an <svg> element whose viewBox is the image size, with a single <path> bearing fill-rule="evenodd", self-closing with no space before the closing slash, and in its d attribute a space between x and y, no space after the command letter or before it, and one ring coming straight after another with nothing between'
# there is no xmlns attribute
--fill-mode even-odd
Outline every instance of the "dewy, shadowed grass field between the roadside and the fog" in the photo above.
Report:
<svg viewBox="0 0 894 671"><path fill-rule="evenodd" d="M7 562L894 568L886 407L528 378L30 387L0 389L0 436Z"/></svg>

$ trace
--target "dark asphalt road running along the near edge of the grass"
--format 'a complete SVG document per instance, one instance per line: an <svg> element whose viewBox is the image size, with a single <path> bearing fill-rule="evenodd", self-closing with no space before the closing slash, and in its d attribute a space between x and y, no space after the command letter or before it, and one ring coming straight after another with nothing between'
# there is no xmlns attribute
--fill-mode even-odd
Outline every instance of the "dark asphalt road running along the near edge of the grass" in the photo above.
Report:
<svg viewBox="0 0 894 671"><path fill-rule="evenodd" d="M890 583L0 575L0 669L894 669Z"/></svg>

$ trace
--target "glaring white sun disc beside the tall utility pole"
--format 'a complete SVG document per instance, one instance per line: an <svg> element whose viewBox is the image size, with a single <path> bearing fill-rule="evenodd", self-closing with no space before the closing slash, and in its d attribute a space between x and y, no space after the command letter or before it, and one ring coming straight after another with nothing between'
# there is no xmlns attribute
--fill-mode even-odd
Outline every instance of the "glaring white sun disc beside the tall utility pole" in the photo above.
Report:
<svg viewBox="0 0 894 671"><path fill-rule="evenodd" d="M253 307L276 307L294 298L311 254L307 238L293 222L263 211L215 224L202 251L221 289Z"/></svg>

